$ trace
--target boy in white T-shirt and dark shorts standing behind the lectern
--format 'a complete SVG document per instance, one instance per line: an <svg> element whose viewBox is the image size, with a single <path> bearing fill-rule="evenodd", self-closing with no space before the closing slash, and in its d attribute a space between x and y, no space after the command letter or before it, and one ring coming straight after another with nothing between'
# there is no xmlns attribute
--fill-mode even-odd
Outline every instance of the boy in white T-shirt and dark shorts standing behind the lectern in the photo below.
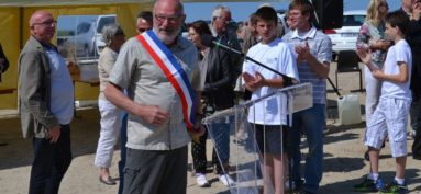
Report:
<svg viewBox="0 0 421 194"><path fill-rule="evenodd" d="M262 7L256 13L256 31L262 42L250 48L247 56L252 59L285 73L298 81L298 71L292 49L276 37L277 16L270 7ZM243 65L243 79L245 88L252 91L252 100L259 99L268 93L276 92L288 84L279 75L267 70L253 61L246 60ZM275 96L250 107L248 122L256 129L255 138L263 155L264 193L272 193L270 183L275 184L275 194L284 193L284 163L281 137L285 139L286 98Z"/></svg>

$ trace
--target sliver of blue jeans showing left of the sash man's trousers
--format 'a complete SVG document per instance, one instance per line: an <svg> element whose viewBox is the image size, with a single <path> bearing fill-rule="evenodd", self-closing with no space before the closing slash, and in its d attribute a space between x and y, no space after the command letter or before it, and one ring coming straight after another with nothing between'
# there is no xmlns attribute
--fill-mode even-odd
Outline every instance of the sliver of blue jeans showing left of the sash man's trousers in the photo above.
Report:
<svg viewBox="0 0 421 194"><path fill-rule="evenodd" d="M120 185L119 185L119 194L123 193L124 185L124 166L125 166L125 152L128 142L128 113L123 114L123 118L121 122L121 130L120 130L120 161L119 161L119 176L120 176Z"/></svg>

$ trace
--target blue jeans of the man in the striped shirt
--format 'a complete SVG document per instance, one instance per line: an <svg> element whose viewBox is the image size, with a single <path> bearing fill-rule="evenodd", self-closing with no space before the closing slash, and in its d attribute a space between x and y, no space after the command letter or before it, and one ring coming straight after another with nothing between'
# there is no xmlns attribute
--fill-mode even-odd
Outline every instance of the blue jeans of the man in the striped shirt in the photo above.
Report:
<svg viewBox="0 0 421 194"><path fill-rule="evenodd" d="M293 181L301 181L300 173L300 136L306 134L309 155L306 159L303 189L317 193L323 175L323 129L325 128L325 105L313 104L313 107L293 114L292 128L288 132L291 148Z"/></svg>

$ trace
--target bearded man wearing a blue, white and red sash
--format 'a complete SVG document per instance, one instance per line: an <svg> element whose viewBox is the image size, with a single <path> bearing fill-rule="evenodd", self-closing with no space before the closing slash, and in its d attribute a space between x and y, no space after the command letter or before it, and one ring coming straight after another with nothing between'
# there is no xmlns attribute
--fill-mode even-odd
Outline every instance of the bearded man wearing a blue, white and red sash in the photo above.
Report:
<svg viewBox="0 0 421 194"><path fill-rule="evenodd" d="M104 93L129 112L123 193L182 194L187 145L204 130L195 119L202 89L197 50L179 35L181 2L156 1L153 18L152 31L123 45Z"/></svg>

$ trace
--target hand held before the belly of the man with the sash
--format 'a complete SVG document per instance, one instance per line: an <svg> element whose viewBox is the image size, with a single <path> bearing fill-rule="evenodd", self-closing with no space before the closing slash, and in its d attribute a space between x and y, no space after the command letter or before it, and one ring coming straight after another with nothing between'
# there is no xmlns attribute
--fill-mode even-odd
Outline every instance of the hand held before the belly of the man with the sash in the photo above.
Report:
<svg viewBox="0 0 421 194"><path fill-rule="evenodd" d="M141 109L143 114L139 116L149 124L160 126L169 118L169 113L157 105L144 105Z"/></svg>

